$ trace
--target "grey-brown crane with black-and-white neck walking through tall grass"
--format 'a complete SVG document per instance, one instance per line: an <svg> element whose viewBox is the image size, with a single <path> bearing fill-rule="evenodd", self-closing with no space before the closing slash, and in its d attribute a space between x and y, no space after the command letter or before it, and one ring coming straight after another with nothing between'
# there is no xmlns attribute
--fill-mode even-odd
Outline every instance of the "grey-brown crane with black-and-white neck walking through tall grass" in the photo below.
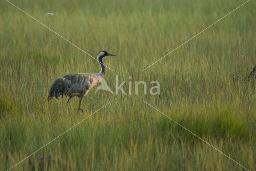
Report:
<svg viewBox="0 0 256 171"><path fill-rule="evenodd" d="M77 73L77 74L68 74L63 77L57 78L54 83L50 86L50 91L48 95L48 101L52 99L52 97L59 98L60 95L68 96L68 102L72 97L79 97L79 106L78 110L82 110L80 108L82 99L86 96L86 94L90 91L92 87L97 85L106 73L105 66L102 62L102 58L105 56L117 56L110 54L106 51L100 51L97 55L98 62L101 66L101 71L97 74L92 73ZM68 104L67 102L67 104Z"/></svg>

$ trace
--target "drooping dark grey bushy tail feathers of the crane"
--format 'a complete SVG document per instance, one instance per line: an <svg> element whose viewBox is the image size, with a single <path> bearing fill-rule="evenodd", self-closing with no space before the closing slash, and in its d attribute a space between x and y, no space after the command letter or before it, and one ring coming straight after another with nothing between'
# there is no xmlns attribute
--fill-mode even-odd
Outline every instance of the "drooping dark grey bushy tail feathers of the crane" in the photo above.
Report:
<svg viewBox="0 0 256 171"><path fill-rule="evenodd" d="M59 96L67 95L68 92L68 84L64 81L65 78L59 77L57 78L54 83L50 86L50 91L48 95L48 101L52 99L52 97L56 97L59 99Z"/></svg>

